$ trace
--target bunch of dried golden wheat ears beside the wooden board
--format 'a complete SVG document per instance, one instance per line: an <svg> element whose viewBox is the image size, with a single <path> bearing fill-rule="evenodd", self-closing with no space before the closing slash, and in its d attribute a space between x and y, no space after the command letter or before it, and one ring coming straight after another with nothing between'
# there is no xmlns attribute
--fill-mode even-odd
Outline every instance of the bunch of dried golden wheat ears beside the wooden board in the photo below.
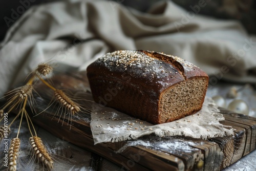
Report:
<svg viewBox="0 0 256 171"><path fill-rule="evenodd" d="M58 90L54 88L54 86L51 86L51 84L48 83L47 80L43 79L42 76L48 76L52 73L53 68L46 64L46 63L41 63L37 66L37 68L32 71L32 77L28 80L28 82L22 86L18 87L6 94L4 94L4 97L8 97L6 104L3 106L2 109L0 109L0 122L3 120L4 116L4 111L8 109L7 113L10 113L13 109L18 109L19 112L15 116L15 118L12 120L12 122L9 124L9 126L12 125L12 123L21 115L20 117L20 122L19 122L19 127L17 131L17 136L16 138L11 140L11 145L9 148L8 152L8 170L16 170L17 168L17 157L18 157L18 152L20 148L20 139L18 138L19 132L20 132L20 127L22 125L22 120L25 115L27 123L28 123L28 128L30 131L30 134L32 137L29 139L29 143L31 145L30 151L31 151L31 157L32 159L36 159L37 162L40 162L44 168L47 169L52 169L53 168L53 160L50 157L45 145L41 141L41 138L37 137L34 125L32 123L32 120L29 117L28 112L26 111L26 104L29 103L31 111L35 111L33 108L33 104L35 102L35 99L33 98L33 93L34 88L33 86L35 83L40 80L42 83L46 84L46 86L54 91L53 95L53 103L58 102L59 103L59 108L57 110L57 114L61 110L61 114L59 117L59 120L61 118L62 113L64 114L64 119L67 114L69 114L69 119L68 119L68 124L70 123L70 129L72 125L72 115L78 114L81 110L86 110L82 108L78 103L73 101L68 95L66 95L62 90ZM51 101L52 102L52 101ZM51 104L52 105L52 104ZM67 112L67 113L66 113ZM70 121L71 118L71 122ZM62 122L62 124L63 124ZM32 127L31 127L32 126ZM32 133L34 131L34 133ZM6 135L10 133L10 127L0 125L0 140ZM35 135L35 136L34 136Z"/></svg>

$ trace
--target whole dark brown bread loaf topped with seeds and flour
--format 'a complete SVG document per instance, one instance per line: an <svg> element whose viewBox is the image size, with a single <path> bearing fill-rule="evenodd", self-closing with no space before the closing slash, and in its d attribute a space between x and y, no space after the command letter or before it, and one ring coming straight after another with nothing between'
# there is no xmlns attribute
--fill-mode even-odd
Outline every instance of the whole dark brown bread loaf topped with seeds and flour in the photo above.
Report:
<svg viewBox="0 0 256 171"><path fill-rule="evenodd" d="M207 74L177 56L143 50L108 53L87 68L93 98L153 124L202 108Z"/></svg>

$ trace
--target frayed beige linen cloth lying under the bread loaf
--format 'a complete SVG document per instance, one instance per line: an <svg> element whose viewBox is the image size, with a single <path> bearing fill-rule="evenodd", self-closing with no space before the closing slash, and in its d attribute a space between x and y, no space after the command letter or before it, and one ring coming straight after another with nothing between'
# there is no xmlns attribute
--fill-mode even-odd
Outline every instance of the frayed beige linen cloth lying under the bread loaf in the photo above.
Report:
<svg viewBox="0 0 256 171"><path fill-rule="evenodd" d="M219 112L214 101L206 97L202 109L196 114L154 125L95 104L91 113L90 127L95 144L132 140L150 134L160 137L186 136L200 139L233 135L231 126L223 126L219 123L225 119Z"/></svg>

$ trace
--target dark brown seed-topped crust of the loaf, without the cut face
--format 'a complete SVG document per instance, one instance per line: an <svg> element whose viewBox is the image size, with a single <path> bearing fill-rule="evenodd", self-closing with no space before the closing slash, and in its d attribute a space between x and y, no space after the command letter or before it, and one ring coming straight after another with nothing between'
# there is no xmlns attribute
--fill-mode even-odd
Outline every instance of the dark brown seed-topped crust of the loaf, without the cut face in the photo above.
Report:
<svg viewBox="0 0 256 171"><path fill-rule="evenodd" d="M135 62L135 65L133 63L130 66L131 63L115 62L117 52L138 53L146 59L153 58L153 61L149 65ZM181 58L143 50L106 54L93 62L87 68L87 73L96 102L105 100L107 106L155 124L159 123L158 102L161 92L191 77L203 76L208 79L204 71ZM121 89L118 89L120 85ZM115 89L117 93L113 93ZM105 98L108 95L112 97Z"/></svg>

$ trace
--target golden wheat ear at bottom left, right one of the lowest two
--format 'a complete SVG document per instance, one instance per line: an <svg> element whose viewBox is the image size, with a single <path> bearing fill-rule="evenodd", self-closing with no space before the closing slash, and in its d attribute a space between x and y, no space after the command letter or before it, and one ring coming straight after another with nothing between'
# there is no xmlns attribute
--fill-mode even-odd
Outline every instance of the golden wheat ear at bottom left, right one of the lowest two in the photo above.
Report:
<svg viewBox="0 0 256 171"><path fill-rule="evenodd" d="M32 155L34 155L38 162L48 169L53 168L53 160L50 157L45 145L42 143L41 138L33 136L29 138L31 145Z"/></svg>

